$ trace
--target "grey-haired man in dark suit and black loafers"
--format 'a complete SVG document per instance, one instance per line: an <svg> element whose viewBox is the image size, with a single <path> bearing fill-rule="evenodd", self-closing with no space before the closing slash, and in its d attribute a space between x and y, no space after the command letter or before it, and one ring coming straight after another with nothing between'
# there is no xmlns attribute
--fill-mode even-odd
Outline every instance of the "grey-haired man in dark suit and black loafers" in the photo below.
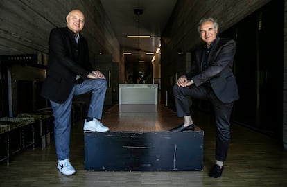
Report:
<svg viewBox="0 0 287 187"><path fill-rule="evenodd" d="M194 129L187 96L211 101L216 120L216 164L209 176L216 178L223 172L230 140L230 115L234 101L239 98L232 73L236 42L218 37L218 24L212 18L200 20L198 32L205 44L195 51L191 71L173 87L177 116L184 117L184 123L171 132Z"/></svg>

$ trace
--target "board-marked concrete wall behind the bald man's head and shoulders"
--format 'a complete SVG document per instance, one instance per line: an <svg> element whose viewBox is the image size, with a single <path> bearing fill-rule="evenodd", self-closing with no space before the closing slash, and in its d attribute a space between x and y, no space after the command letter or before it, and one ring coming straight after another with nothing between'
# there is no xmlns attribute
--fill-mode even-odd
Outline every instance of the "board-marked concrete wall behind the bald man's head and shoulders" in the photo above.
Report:
<svg viewBox="0 0 287 187"><path fill-rule="evenodd" d="M82 35L89 43L91 62L100 52L112 54L114 62L121 62L119 42L98 0L1 1L0 55L48 53L50 30L67 26L66 16L72 9L85 14Z"/></svg>

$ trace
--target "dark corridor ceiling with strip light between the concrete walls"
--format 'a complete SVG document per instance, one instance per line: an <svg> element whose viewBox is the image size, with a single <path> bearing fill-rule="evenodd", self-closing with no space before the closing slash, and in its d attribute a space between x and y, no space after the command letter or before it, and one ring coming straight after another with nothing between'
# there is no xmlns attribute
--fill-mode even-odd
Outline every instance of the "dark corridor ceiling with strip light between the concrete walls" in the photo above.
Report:
<svg viewBox="0 0 287 187"><path fill-rule="evenodd" d="M101 0L122 51L132 53L125 55L125 62L151 62L153 55L146 53L155 53L159 47L160 37L176 2L177 0ZM127 35L151 37L138 39L127 38Z"/></svg>

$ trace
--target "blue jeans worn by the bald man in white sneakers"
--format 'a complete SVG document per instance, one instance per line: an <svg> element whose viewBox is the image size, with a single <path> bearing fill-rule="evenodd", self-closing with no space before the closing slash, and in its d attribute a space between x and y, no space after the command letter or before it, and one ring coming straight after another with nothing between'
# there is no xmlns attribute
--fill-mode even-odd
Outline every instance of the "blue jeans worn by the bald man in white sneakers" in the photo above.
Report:
<svg viewBox="0 0 287 187"><path fill-rule="evenodd" d="M105 79L87 79L81 84L75 84L69 98L64 103L55 103L50 100L53 109L54 141L58 160L69 159L73 96L92 91L87 116L101 119L106 90L107 81Z"/></svg>

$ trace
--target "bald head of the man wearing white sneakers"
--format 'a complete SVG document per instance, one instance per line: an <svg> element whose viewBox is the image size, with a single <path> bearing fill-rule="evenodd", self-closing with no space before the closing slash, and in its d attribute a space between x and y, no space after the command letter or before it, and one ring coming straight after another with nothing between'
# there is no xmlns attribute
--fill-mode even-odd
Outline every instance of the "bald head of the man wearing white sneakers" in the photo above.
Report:
<svg viewBox="0 0 287 187"><path fill-rule="evenodd" d="M85 17L79 10L73 10L67 15L67 26L73 33L79 33L85 25Z"/></svg>

